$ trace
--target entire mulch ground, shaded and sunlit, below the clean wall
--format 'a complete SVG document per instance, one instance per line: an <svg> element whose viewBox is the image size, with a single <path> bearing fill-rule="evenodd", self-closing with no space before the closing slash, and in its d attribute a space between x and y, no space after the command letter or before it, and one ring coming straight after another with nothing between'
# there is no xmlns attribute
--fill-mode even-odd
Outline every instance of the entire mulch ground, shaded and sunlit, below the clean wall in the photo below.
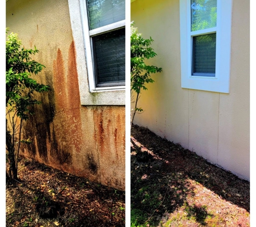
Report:
<svg viewBox="0 0 256 227"><path fill-rule="evenodd" d="M133 226L250 226L250 182L133 125Z"/></svg>

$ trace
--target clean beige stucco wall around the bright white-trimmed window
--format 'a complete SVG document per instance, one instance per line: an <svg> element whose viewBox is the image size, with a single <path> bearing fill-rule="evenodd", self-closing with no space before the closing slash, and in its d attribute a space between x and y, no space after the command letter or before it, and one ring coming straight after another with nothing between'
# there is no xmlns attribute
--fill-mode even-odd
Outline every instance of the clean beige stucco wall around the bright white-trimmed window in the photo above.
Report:
<svg viewBox="0 0 256 227"><path fill-rule="evenodd" d="M233 0L230 93L181 88L178 0L136 0L131 20L143 38L155 40L157 56L149 64L162 67L155 83L142 91L145 110L134 123L213 164L250 180L250 1Z"/></svg>

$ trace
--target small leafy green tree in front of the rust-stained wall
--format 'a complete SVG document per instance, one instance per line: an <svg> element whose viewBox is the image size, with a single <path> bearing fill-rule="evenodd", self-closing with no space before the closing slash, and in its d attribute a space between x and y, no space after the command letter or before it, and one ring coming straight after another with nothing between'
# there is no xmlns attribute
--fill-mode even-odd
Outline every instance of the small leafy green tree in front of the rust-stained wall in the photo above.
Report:
<svg viewBox="0 0 256 227"><path fill-rule="evenodd" d="M7 30L6 30L7 31ZM7 34L7 32L6 32ZM11 33L6 38L6 161L9 170L6 176L13 182L17 180L18 157L20 143L31 143L21 136L22 122L33 114L30 106L40 102L33 97L34 92L48 91L49 86L37 83L30 74L38 74L45 67L31 59L31 54L38 53L34 49L20 49L22 41L18 35Z"/></svg>

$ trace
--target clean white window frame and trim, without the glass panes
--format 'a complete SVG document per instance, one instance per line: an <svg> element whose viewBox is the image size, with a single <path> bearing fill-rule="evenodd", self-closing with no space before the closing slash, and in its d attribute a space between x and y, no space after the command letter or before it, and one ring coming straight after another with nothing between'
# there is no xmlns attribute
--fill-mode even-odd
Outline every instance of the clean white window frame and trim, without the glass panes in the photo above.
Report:
<svg viewBox="0 0 256 227"><path fill-rule="evenodd" d="M191 1L179 1L181 33L181 87L229 93L232 0L217 0L217 26L191 32ZM215 76L192 75L192 37L216 32Z"/></svg>

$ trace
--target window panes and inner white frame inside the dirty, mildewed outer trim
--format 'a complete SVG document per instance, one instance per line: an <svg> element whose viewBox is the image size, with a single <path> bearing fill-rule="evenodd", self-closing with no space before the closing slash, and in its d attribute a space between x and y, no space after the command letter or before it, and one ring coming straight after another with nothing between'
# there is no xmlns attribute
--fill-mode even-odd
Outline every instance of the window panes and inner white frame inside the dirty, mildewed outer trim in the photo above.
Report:
<svg viewBox="0 0 256 227"><path fill-rule="evenodd" d="M125 84L125 1L85 0L82 8L90 91L118 89Z"/></svg>

